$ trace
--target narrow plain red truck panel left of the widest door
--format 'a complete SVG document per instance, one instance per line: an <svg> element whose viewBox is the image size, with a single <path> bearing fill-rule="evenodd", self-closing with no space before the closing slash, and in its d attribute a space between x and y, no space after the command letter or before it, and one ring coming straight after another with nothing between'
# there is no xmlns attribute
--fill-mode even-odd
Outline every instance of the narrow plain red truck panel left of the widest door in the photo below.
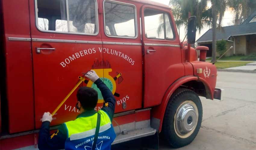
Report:
<svg viewBox="0 0 256 150"><path fill-rule="evenodd" d="M9 133L34 129L33 67L28 1L1 1L5 30L6 97ZM22 11L21 11L22 10ZM11 19L10 19L11 18Z"/></svg>

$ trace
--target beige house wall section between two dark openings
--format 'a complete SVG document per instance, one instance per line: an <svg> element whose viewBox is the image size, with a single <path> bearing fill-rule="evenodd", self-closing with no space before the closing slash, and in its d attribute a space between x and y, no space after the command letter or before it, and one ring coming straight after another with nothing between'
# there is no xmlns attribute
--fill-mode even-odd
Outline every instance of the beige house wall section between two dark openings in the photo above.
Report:
<svg viewBox="0 0 256 150"><path fill-rule="evenodd" d="M235 37L235 51L236 54L246 55L246 36L237 36Z"/></svg>

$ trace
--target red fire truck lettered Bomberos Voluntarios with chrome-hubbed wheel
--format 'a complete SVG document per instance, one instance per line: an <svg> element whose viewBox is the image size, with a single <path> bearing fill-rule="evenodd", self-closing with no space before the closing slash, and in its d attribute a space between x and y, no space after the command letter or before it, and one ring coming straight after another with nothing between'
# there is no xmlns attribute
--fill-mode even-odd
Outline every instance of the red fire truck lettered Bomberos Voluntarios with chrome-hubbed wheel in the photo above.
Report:
<svg viewBox="0 0 256 150"><path fill-rule="evenodd" d="M113 144L163 133L188 145L202 121L198 96L220 99L189 18L188 46L170 7L148 0L1 0L0 149L36 149L41 117L95 70L116 97ZM196 50L200 50L200 61ZM80 86L97 87L90 80ZM75 92L74 92L75 93ZM79 114L76 94L53 116L52 132ZM98 94L99 110L103 104Z"/></svg>

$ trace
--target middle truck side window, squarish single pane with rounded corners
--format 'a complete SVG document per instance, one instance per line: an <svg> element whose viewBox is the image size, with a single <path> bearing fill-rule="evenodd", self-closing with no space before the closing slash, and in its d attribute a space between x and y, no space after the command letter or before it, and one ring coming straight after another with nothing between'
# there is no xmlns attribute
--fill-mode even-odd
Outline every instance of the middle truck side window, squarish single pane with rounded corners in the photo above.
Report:
<svg viewBox="0 0 256 150"><path fill-rule="evenodd" d="M136 38L136 8L133 5L118 2L104 3L105 34Z"/></svg>

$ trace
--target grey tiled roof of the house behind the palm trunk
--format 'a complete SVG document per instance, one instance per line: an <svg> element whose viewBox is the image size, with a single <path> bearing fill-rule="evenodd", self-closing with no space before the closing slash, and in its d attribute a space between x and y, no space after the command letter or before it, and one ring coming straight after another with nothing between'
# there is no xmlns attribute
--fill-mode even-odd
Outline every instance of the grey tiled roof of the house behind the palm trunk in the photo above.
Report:
<svg viewBox="0 0 256 150"><path fill-rule="evenodd" d="M242 24L234 26L222 27L220 30L217 29L216 39L217 40L227 40L230 36L239 35L250 35L256 34L256 22L251 22L251 19L256 15L256 11L252 13ZM211 42L212 41L212 29L209 29L204 33L196 42Z"/></svg>

